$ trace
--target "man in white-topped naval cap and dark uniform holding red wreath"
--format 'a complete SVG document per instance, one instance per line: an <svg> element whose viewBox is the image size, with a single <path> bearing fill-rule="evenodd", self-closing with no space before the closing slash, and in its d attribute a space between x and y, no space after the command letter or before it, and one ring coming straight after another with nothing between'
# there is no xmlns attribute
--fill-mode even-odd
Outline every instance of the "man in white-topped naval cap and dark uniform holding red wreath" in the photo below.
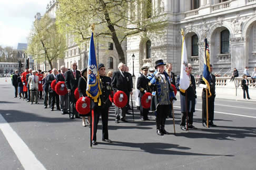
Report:
<svg viewBox="0 0 256 170"><path fill-rule="evenodd" d="M138 78L137 80L137 89L140 90L139 93L139 99L141 101L141 98L143 96L143 94L145 94L146 92L150 92L150 87L149 87L149 79L147 79L147 70L149 68L147 66L144 66L141 68L142 70L142 75ZM147 114L149 114L149 109L144 109L142 106L140 107L140 113L141 113L141 120L142 121L147 121L149 120L149 118L147 118Z"/></svg>

